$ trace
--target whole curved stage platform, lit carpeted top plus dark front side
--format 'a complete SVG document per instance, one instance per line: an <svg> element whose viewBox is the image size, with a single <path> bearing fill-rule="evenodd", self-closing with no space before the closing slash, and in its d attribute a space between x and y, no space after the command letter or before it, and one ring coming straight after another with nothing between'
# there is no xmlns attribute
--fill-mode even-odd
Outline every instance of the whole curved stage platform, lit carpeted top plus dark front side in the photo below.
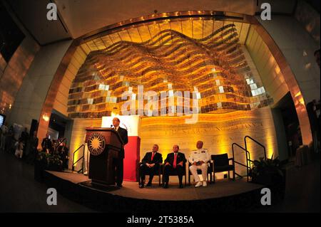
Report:
<svg viewBox="0 0 321 227"><path fill-rule="evenodd" d="M44 181L68 199L97 211L111 212L247 211L261 206L260 189L264 187L244 179L222 179L207 187L187 185L183 189L175 183L168 189L163 189L158 183L139 189L137 182L124 181L119 189L116 186L92 186L88 176L58 171L45 171Z"/></svg>

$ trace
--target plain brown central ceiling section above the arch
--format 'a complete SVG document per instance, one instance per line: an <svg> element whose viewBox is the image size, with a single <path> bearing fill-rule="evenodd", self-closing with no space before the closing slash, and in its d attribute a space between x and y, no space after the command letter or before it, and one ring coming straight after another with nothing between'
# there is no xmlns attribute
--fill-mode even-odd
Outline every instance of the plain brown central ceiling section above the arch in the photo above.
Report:
<svg viewBox="0 0 321 227"><path fill-rule="evenodd" d="M73 38L113 23L175 11L225 11L254 15L256 0L56 0L58 10ZM76 23L75 23L76 22Z"/></svg>

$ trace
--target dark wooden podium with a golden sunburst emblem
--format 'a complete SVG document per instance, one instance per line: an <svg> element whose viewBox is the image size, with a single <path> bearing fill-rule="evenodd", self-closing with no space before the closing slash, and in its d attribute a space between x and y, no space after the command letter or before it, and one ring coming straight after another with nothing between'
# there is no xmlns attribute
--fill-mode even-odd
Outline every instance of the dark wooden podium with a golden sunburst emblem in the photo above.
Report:
<svg viewBox="0 0 321 227"><path fill-rule="evenodd" d="M118 158L123 147L118 132L107 127L86 128L86 143L90 152L89 179L93 183L115 184L113 159Z"/></svg>

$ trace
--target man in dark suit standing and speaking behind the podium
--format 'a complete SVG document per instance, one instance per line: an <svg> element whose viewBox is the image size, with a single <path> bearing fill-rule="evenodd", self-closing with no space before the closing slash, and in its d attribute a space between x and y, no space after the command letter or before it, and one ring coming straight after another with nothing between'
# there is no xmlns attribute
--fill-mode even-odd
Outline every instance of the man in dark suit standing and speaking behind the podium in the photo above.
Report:
<svg viewBox="0 0 321 227"><path fill-rule="evenodd" d="M127 130L119 127L121 120L119 118L113 118L113 129L116 130L123 141L123 146L128 143L128 134ZM119 153L118 159L114 160L114 164L116 167L116 184L118 187L122 187L123 184L123 159L125 158L125 149L121 147L121 152Z"/></svg>

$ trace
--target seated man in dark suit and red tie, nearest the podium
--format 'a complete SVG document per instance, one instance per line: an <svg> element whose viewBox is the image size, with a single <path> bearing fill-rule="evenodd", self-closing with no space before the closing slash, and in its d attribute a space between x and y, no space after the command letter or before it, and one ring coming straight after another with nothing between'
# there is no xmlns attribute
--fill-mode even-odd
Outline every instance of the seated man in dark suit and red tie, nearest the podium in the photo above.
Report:
<svg viewBox="0 0 321 227"><path fill-rule="evenodd" d="M149 180L146 186L151 186L154 174L158 173L159 166L163 163L162 154L158 153L158 144L153 145L153 151L147 152L141 162L143 162L143 164L139 169L141 177L141 185L139 187L142 189L145 184L145 175L149 175Z"/></svg>

